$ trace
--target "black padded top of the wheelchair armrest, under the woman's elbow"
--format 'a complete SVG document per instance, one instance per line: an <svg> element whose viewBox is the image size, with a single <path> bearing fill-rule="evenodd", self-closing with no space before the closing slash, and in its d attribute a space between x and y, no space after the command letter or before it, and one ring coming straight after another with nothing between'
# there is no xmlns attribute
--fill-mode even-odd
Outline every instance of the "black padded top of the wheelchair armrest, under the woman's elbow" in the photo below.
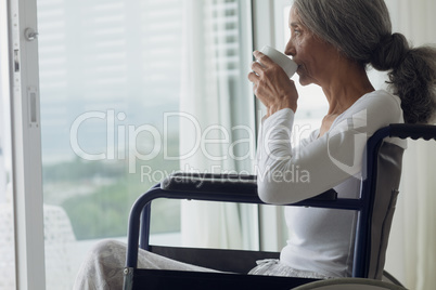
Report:
<svg viewBox="0 0 436 290"><path fill-rule="evenodd" d="M254 196L257 194L257 177L248 174L211 174L179 172L169 175L161 183L163 190L204 193L204 194L231 194L236 196ZM337 193L334 189L326 190L308 200L329 201L336 200ZM259 201L261 203L261 201Z"/></svg>

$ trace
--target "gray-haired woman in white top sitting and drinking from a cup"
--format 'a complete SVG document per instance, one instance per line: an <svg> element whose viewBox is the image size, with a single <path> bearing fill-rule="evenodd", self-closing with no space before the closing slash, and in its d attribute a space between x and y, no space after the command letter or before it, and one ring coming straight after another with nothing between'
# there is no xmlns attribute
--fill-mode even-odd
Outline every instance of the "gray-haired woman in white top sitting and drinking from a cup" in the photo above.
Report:
<svg viewBox="0 0 436 290"><path fill-rule="evenodd" d="M436 50L410 49L402 35L393 35L383 0L295 0L288 24L285 53L298 65L299 82L320 85L330 106L321 128L293 148L298 92L280 66L254 52L259 62L253 63L248 79L267 107L258 143L259 196L282 205L334 187L339 196L356 197L367 139L389 123L425 123L433 117ZM374 90L368 65L389 71L390 93ZM399 140L388 142L405 147ZM291 179L295 170L305 170L306 179ZM293 236L280 260L261 261L251 274L350 276L355 219L352 212L287 208ZM118 242L95 247L75 289L120 289L125 251ZM209 271L142 250L138 266Z"/></svg>

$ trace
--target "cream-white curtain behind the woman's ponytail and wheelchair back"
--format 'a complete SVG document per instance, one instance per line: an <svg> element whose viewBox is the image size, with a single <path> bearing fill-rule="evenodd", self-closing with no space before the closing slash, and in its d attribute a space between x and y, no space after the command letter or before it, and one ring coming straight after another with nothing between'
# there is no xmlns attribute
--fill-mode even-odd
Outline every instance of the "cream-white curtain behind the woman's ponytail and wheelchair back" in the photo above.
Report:
<svg viewBox="0 0 436 290"><path fill-rule="evenodd" d="M436 43L435 0L387 0L394 30L414 47ZM386 269L409 289L436 287L436 145L410 141L403 158Z"/></svg>

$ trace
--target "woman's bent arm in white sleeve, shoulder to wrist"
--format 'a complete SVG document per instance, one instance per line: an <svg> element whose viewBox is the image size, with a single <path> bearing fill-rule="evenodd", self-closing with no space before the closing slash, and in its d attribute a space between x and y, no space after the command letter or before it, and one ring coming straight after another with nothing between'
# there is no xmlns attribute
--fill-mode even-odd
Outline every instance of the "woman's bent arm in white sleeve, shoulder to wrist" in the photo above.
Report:
<svg viewBox="0 0 436 290"><path fill-rule="evenodd" d="M282 109L262 121L258 142L260 199L285 205L317 196L350 176L359 176L368 139L380 128L402 121L396 97L377 92L359 100L309 144L293 148L294 111Z"/></svg>

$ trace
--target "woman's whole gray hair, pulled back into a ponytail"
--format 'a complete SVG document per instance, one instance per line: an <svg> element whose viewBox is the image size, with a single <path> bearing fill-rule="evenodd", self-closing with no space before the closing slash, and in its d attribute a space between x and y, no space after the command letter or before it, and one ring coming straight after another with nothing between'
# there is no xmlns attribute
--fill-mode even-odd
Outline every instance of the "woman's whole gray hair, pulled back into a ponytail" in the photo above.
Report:
<svg viewBox="0 0 436 290"><path fill-rule="evenodd" d="M436 49L411 49L392 32L384 0L295 0L303 24L362 66L388 70L389 88L401 98L405 121L426 123L436 111Z"/></svg>

